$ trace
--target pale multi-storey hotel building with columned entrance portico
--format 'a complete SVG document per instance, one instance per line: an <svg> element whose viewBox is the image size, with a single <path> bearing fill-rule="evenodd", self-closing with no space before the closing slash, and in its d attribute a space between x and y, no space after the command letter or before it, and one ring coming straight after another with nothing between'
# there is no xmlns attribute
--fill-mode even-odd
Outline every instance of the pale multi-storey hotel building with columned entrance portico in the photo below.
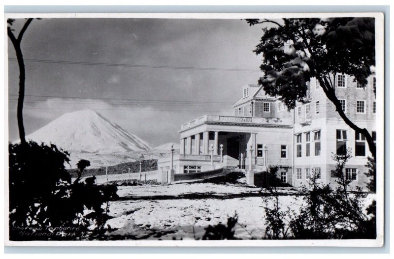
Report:
<svg viewBox="0 0 394 259"><path fill-rule="evenodd" d="M365 87L348 75L337 75L335 82L335 93L348 118L372 132L376 140L375 75ZM312 172L323 183L335 185L332 154L350 147L353 157L346 173L353 178L351 185L364 187L369 181L364 175L371 155L368 144L345 124L317 80L307 85L304 102L297 102L290 111L278 98L266 95L262 86L247 85L232 105L233 116L203 115L181 125L180 153L173 156L173 173L248 169L252 161L254 172L277 165L278 178L295 187L307 184ZM171 181L169 169L170 158L158 161L159 181Z"/></svg>

